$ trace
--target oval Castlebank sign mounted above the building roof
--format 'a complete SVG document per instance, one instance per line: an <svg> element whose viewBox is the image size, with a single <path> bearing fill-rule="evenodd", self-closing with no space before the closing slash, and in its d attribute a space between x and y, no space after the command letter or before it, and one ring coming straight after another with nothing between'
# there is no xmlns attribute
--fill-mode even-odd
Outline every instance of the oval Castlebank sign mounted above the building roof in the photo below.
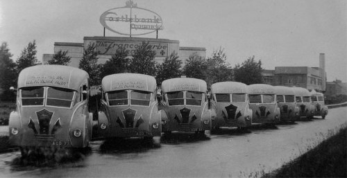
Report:
<svg viewBox="0 0 347 178"><path fill-rule="evenodd" d="M106 29L120 35L145 35L162 30L162 17L156 12L137 7L127 1L126 6L103 12L100 23Z"/></svg>

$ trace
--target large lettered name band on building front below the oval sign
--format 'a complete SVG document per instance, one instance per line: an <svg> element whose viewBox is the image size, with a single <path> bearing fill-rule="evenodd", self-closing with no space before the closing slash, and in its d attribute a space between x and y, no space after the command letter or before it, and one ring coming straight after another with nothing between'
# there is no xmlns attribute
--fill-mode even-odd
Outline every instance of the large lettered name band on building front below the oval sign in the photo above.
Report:
<svg viewBox="0 0 347 178"><path fill-rule="evenodd" d="M114 55L119 48L126 48L129 55L133 55L142 42L117 42L117 41L96 41L96 51L99 55ZM167 57L168 44L149 42L155 57Z"/></svg>

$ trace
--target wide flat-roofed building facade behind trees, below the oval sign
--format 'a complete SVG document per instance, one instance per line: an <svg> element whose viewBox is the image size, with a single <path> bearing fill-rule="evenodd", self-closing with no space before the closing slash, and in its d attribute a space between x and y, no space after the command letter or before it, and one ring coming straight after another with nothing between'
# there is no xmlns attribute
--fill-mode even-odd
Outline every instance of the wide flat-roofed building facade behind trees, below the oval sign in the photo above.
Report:
<svg viewBox="0 0 347 178"><path fill-rule="evenodd" d="M84 37L83 43L55 42L54 53L58 53L58 51L67 51L67 55L71 57L69 66L78 67L83 57L84 48L92 44L96 46L95 50L98 53L99 64L103 64L109 60L119 48L126 48L126 50L130 52L130 57L135 50L142 45L142 42L149 42L151 49L155 51L154 60L160 64L164 62L165 58L171 55L171 53L178 54L179 59L183 61L183 66L185 60L194 53L201 57L206 57L205 48L180 46L178 40L142 37ZM52 58L53 54L44 54L42 57L43 64L46 64Z"/></svg>

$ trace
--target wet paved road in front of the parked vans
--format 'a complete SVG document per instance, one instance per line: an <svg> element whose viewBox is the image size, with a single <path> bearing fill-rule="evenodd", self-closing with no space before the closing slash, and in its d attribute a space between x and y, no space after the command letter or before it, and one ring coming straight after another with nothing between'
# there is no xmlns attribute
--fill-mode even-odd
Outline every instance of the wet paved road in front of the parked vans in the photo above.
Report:
<svg viewBox="0 0 347 178"><path fill-rule="evenodd" d="M331 130L347 125L347 107L330 109L325 120L298 121L251 133L223 130L206 137L173 134L117 143L92 143L85 159L49 168L16 167L19 152L0 154L0 177L248 177L270 171L320 143Z"/></svg>

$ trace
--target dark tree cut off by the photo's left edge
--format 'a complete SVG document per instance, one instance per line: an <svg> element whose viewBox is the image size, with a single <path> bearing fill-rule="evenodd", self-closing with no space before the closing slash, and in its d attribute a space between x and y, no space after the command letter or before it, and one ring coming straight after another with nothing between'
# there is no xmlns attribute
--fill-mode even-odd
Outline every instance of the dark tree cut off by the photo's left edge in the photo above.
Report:
<svg viewBox="0 0 347 178"><path fill-rule="evenodd" d="M16 64L11 57L12 54L7 43L3 42L0 46L0 87L3 89L1 100L13 100L15 98L15 94L10 91L10 87L17 86L18 73Z"/></svg>

